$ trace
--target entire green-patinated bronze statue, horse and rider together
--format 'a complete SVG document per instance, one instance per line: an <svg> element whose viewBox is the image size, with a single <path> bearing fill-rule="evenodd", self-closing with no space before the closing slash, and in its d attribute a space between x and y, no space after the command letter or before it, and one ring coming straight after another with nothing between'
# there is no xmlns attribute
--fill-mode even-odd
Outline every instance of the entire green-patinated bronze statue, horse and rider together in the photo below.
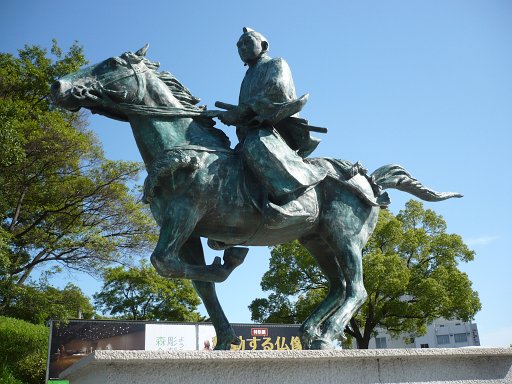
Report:
<svg viewBox="0 0 512 384"><path fill-rule="evenodd" d="M268 55L268 41L244 28L238 41L248 65L238 105L225 111L198 107L169 72L148 60L147 46L72 73L52 87L60 106L88 108L129 122L148 177L144 200L160 226L151 262L162 275L194 283L217 332L217 349L237 342L215 293L244 260L249 245L299 239L330 282L323 303L301 327L306 349L332 348L366 299L361 250L395 188L423 200L461 197L424 187L399 165L372 174L359 164L307 158L326 129L298 117L307 95L297 98L288 64ZM214 118L235 125L230 148ZM200 238L223 249L223 261L205 263Z"/></svg>

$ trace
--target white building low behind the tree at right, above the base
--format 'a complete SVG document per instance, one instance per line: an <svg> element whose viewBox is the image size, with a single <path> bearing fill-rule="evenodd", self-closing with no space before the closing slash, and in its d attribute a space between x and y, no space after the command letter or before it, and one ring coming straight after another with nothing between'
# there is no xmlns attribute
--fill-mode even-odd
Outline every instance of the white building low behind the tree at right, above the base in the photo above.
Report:
<svg viewBox="0 0 512 384"><path fill-rule="evenodd" d="M427 326L424 336L403 334L392 338L385 330L378 329L377 336L372 337L368 348L459 348L479 345L475 323L437 319ZM357 348L355 341L353 347Z"/></svg>

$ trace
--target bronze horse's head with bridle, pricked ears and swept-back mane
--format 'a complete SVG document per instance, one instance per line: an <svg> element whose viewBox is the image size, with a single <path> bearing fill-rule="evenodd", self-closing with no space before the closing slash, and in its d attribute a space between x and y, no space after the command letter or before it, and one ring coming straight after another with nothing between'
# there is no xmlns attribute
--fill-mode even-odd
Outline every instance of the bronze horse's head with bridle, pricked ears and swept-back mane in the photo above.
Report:
<svg viewBox="0 0 512 384"><path fill-rule="evenodd" d="M146 44L135 53L125 52L62 77L51 87L53 99L71 111L87 108L122 121L128 120L129 106L196 104L199 99L172 74L157 71L160 64L145 57L147 49Z"/></svg>

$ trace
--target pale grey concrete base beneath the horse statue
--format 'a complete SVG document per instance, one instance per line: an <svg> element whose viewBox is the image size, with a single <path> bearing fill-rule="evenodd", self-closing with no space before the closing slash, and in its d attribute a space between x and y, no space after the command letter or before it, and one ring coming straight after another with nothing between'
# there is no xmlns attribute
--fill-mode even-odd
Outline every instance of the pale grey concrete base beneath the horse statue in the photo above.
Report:
<svg viewBox="0 0 512 384"><path fill-rule="evenodd" d="M95 351L71 384L512 383L512 348L336 351Z"/></svg>

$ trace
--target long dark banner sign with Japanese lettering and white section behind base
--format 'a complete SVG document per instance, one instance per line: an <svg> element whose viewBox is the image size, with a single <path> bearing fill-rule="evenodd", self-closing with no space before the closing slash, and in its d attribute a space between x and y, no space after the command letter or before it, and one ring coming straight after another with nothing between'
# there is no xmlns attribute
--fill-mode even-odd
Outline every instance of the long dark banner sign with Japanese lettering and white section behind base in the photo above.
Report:
<svg viewBox="0 0 512 384"><path fill-rule="evenodd" d="M232 350L302 349L299 325L232 324L239 344ZM217 342L210 323L117 320L52 321L47 378L59 374L96 350L213 350Z"/></svg>

